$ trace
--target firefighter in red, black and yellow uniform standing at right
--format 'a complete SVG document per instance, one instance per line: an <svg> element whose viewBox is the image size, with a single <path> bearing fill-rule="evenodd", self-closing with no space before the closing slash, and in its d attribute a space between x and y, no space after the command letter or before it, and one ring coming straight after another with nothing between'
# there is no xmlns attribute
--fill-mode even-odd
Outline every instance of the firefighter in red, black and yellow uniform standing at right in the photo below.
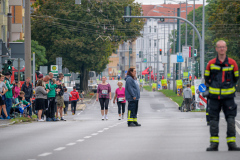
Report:
<svg viewBox="0 0 240 160"><path fill-rule="evenodd" d="M226 55L226 42L216 43L217 57L208 62L205 70L205 81L209 86L210 147L207 151L218 151L219 113L221 109L227 121L227 144L229 151L240 151L236 145L235 117L237 105L234 102L235 85L239 79L238 66L235 60Z"/></svg>

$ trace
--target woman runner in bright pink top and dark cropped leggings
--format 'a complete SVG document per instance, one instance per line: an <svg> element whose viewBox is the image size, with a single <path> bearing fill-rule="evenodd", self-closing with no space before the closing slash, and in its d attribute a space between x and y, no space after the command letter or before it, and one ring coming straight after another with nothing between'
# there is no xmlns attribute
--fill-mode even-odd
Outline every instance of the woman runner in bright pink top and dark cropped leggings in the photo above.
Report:
<svg viewBox="0 0 240 160"><path fill-rule="evenodd" d="M126 105L125 88L122 87L123 83L121 81L118 81L117 85L119 88L117 88L115 91L113 103L115 104L115 100L117 98L118 114L119 114L118 120L121 120L121 109L122 109L122 119L124 119L124 113L125 113L125 105Z"/></svg>

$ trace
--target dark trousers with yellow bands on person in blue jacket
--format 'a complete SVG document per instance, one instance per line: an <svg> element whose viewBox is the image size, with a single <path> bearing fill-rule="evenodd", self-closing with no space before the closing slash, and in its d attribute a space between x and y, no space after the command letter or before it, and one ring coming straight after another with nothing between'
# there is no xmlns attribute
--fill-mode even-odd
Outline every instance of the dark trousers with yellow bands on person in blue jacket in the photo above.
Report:
<svg viewBox="0 0 240 160"><path fill-rule="evenodd" d="M128 124L137 122L138 100L128 101Z"/></svg>

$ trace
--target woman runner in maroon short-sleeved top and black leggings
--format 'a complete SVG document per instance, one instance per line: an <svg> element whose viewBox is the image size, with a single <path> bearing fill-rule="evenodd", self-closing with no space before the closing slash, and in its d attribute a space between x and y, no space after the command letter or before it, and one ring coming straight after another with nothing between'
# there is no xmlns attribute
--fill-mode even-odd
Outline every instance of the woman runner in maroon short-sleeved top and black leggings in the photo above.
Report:
<svg viewBox="0 0 240 160"><path fill-rule="evenodd" d="M108 104L109 99L112 99L111 95L111 86L109 83L106 82L107 77L102 77L102 83L98 85L97 88L97 95L96 95L96 101L98 101L101 105L101 114L102 114L102 120L104 119L108 120L107 113L108 113ZM104 117L104 109L105 109L105 117Z"/></svg>

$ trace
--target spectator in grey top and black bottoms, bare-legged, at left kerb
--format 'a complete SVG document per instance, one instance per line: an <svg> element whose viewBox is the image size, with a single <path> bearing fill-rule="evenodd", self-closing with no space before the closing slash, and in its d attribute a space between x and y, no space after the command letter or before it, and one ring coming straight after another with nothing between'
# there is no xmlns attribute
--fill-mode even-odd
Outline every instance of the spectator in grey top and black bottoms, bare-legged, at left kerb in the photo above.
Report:
<svg viewBox="0 0 240 160"><path fill-rule="evenodd" d="M47 99L47 94L49 90L46 91L43 86L43 81L38 80L35 92L36 92L36 110L38 111L38 121L43 122L44 120L42 119L42 113L43 110L45 110L46 104L45 99Z"/></svg>

